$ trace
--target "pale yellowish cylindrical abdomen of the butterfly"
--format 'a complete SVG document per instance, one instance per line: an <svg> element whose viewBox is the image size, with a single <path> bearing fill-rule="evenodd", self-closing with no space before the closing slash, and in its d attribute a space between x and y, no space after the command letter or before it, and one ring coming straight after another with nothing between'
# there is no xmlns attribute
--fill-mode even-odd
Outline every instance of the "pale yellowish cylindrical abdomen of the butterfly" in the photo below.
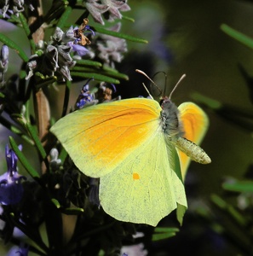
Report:
<svg viewBox="0 0 253 256"><path fill-rule="evenodd" d="M210 157L195 143L187 140L185 137L179 137L174 141L175 146L183 153L187 154L192 160L200 164L210 164Z"/></svg>

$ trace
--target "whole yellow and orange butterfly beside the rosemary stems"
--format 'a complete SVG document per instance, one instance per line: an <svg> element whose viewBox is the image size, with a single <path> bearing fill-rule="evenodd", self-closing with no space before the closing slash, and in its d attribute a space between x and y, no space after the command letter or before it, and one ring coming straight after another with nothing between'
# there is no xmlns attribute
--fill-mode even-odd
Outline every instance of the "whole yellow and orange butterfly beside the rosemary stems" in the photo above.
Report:
<svg viewBox="0 0 253 256"><path fill-rule="evenodd" d="M101 207L113 218L156 226L178 206L187 207L185 153L210 162L194 144L208 127L203 110L192 102L176 108L169 98L161 106L146 98L102 103L70 113L50 129L81 172L100 177Z"/></svg>

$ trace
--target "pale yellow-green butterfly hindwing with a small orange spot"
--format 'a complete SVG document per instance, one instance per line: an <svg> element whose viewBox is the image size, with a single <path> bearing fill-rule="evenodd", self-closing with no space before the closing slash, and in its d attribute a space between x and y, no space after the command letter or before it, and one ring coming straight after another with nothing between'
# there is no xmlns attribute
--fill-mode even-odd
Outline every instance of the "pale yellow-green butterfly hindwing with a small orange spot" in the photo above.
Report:
<svg viewBox="0 0 253 256"><path fill-rule="evenodd" d="M159 122L150 128L147 141L101 177L100 199L103 209L118 220L156 226L177 203L187 207L187 200Z"/></svg>

